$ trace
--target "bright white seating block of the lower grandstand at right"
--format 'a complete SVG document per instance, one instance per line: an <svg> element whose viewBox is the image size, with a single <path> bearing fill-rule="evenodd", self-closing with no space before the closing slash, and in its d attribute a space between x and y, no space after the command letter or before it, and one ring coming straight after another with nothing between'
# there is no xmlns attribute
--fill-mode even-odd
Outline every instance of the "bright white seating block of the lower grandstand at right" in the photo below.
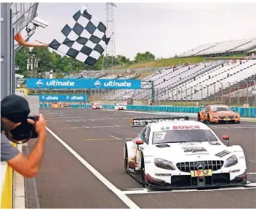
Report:
<svg viewBox="0 0 256 209"><path fill-rule="evenodd" d="M156 99L167 101L204 100L213 94L217 94L221 89L226 89L234 83L244 81L255 74L256 60L244 60L233 64L228 62L170 91L165 91L158 95Z"/></svg>

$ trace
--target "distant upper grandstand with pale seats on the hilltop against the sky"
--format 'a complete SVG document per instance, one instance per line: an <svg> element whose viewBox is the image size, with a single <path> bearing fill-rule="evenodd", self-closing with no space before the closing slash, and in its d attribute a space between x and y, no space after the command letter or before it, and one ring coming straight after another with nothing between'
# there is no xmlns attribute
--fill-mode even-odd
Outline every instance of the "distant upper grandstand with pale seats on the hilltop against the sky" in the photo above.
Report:
<svg viewBox="0 0 256 209"><path fill-rule="evenodd" d="M245 54L256 49L256 38L225 41L215 44L204 44L197 46L188 52L184 52L177 57L221 57L231 54ZM255 52L255 51L253 51Z"/></svg>

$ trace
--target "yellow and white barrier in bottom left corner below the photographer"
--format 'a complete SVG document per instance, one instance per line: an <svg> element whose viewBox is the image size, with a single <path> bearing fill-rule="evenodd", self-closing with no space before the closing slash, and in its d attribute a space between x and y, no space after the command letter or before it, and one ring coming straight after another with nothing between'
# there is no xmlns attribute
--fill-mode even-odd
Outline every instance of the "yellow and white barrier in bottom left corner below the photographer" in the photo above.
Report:
<svg viewBox="0 0 256 209"><path fill-rule="evenodd" d="M16 144L11 143L14 147ZM15 171L1 162L1 208L15 208Z"/></svg>

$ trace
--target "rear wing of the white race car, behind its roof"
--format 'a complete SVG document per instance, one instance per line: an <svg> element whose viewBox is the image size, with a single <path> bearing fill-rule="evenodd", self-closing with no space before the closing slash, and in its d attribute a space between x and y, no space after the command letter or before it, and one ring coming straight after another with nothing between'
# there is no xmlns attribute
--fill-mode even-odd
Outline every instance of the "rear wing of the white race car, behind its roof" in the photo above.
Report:
<svg viewBox="0 0 256 209"><path fill-rule="evenodd" d="M160 121L168 120L189 120L188 116L184 117L163 117L163 118L131 118L131 126L133 127L143 127L147 126L148 123L156 123Z"/></svg>

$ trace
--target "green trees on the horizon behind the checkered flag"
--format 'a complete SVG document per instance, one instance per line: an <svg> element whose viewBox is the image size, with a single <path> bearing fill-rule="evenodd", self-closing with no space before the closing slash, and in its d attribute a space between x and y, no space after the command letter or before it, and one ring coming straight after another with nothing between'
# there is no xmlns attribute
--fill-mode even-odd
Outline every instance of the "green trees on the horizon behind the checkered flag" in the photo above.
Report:
<svg viewBox="0 0 256 209"><path fill-rule="evenodd" d="M30 49L28 47L23 47L15 54L15 65L20 67L17 73L25 75L25 77L27 75L27 59L29 52ZM54 70L58 78L62 78L63 73L78 73L79 70L102 70L112 66L112 56L105 56L103 62L103 55L101 55L94 66L89 66L71 57L60 56L60 54L56 52L50 52L47 47L34 47L31 52L38 54L39 73ZM123 55L117 55L113 57L113 65L132 65L133 63L151 60L155 60L155 56L151 52L137 53L134 60L129 60L129 58Z"/></svg>

